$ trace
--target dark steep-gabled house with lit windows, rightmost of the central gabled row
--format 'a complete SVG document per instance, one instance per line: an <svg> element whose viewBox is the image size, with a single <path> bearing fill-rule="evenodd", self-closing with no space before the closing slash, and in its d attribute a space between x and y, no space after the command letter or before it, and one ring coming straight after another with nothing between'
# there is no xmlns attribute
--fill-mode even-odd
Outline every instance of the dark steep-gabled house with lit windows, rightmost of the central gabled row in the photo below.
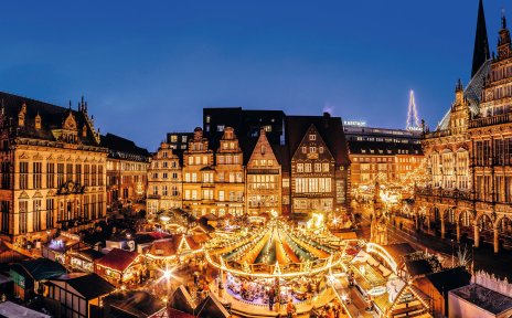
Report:
<svg viewBox="0 0 512 318"><path fill-rule="evenodd" d="M287 116L291 214L348 209L350 160L340 117Z"/></svg>

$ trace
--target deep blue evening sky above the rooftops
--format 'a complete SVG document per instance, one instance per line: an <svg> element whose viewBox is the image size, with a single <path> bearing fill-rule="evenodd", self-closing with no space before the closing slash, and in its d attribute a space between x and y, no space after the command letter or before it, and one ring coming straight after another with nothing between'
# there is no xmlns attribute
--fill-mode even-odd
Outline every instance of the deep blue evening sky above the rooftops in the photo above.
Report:
<svg viewBox="0 0 512 318"><path fill-rule="evenodd" d="M491 51L508 2L484 1ZM404 128L410 88L435 127L457 78L469 80L477 9L478 0L2 1L0 91L73 107L85 95L102 132L149 150L168 131L201 126L203 107L329 106Z"/></svg>

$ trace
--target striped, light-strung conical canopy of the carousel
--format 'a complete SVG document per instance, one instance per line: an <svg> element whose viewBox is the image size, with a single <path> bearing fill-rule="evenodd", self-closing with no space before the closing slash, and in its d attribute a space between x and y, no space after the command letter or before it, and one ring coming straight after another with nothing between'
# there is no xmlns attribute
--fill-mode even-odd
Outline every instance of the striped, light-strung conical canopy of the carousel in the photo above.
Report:
<svg viewBox="0 0 512 318"><path fill-rule="evenodd" d="M323 237L324 239L324 237ZM246 273L290 275L319 272L340 258L320 236L270 221L254 231L242 230L230 236L211 240L206 258L217 267L237 268Z"/></svg>

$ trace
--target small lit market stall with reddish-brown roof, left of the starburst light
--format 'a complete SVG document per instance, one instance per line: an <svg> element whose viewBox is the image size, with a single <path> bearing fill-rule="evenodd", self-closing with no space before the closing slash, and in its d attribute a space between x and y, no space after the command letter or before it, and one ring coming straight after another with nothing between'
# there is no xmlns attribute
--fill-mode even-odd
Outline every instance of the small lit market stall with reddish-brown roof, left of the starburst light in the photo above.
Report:
<svg viewBox="0 0 512 318"><path fill-rule="evenodd" d="M146 272L142 255L120 248L111 250L104 257L94 261L94 263L95 273L116 287L137 284L137 278Z"/></svg>

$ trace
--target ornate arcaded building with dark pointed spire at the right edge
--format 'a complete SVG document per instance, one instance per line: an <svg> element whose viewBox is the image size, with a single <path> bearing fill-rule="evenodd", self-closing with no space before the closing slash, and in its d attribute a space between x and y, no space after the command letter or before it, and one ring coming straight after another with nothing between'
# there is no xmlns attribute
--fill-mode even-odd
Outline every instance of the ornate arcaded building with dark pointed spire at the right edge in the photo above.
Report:
<svg viewBox="0 0 512 318"><path fill-rule="evenodd" d="M417 226L499 252L512 233L512 54L504 17L490 60L484 30L480 1L473 77L466 89L458 84L455 104L425 136L431 180L417 189Z"/></svg>

